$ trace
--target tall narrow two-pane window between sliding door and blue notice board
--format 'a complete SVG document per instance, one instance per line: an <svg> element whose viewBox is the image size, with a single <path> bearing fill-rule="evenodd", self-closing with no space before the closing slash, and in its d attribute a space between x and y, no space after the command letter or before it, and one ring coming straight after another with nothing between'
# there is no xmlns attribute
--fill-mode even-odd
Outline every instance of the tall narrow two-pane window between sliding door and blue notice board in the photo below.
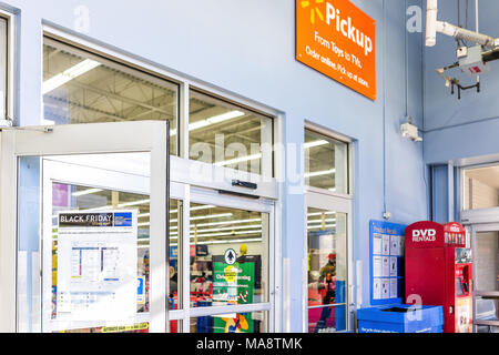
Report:
<svg viewBox="0 0 499 355"><path fill-rule="evenodd" d="M305 129L307 322L304 331L308 333L349 329L347 252L353 199L348 151L348 143Z"/></svg>

